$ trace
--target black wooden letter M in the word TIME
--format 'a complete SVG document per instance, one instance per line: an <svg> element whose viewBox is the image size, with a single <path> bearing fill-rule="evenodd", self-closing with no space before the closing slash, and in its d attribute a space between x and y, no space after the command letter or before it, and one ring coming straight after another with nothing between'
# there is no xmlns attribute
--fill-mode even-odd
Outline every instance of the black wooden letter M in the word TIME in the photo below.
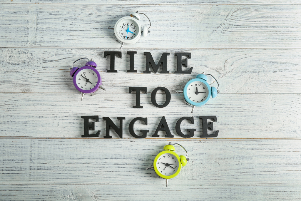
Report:
<svg viewBox="0 0 301 201"><path fill-rule="evenodd" d="M161 63L162 63L162 71L160 73L169 73L169 71L167 71L167 55L169 55L169 52L162 53L162 56L157 65L150 52L144 52L143 54L146 56L146 70L144 70L143 73L151 73L151 71L149 70L149 64L151 64L154 73L157 73Z"/></svg>

